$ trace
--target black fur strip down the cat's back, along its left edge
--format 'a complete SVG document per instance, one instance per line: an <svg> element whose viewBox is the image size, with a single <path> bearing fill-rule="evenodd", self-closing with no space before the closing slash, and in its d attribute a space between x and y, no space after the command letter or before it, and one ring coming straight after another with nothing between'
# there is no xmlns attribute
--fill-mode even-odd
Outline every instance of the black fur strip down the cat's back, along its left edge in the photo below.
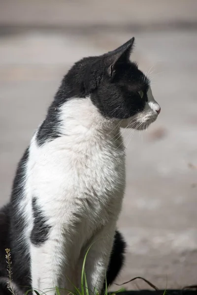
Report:
<svg viewBox="0 0 197 295"><path fill-rule="evenodd" d="M23 240L26 227L25 219L20 213L21 201L26 197L24 192L26 164L29 159L29 148L21 158L15 174L11 201L8 204L10 211L10 250L12 259L12 278L18 286L31 286L30 253L27 243ZM22 288L24 292L30 288Z"/></svg>

